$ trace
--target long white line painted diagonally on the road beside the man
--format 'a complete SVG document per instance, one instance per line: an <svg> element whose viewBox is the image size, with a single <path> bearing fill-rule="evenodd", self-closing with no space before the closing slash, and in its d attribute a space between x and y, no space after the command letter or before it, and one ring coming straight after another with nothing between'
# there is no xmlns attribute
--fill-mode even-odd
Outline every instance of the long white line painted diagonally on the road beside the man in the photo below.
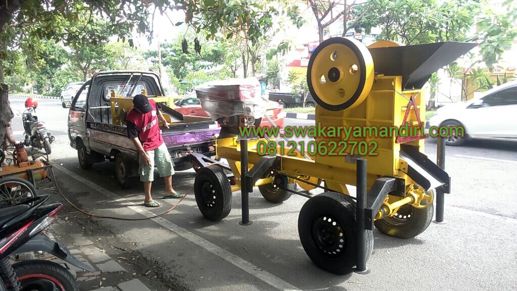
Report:
<svg viewBox="0 0 517 291"><path fill-rule="evenodd" d="M135 212L140 213L144 217L153 217L156 215L155 213L153 213L149 210L146 210L143 206L140 206L140 204L130 202L130 201L126 200L126 198L120 197L117 194L115 194L107 189L104 189L103 187L79 176L78 174L73 173L72 171L66 169L63 166L53 165L53 167L55 169L59 170L60 172L63 172L66 175L74 178L75 180L78 180L79 182L83 183L84 185L88 186L89 188L92 188L95 191L97 191L105 196L110 197L111 199L113 199L116 202L126 203L127 204L126 207L130 208L131 210L133 210ZM131 206L131 205L133 205L133 206ZM153 218L150 220L169 229L171 232L176 233L177 235L187 239L188 241L190 241L194 244L197 244L197 246L200 246L201 248L207 250L208 252L215 254L216 256L224 259L226 262L233 264L234 266L240 268L241 270L253 275L254 277L266 282L267 284L269 284L277 289L286 290L286 291L287 290L300 290L297 287L278 278L277 276L251 264L250 262L246 261L245 259L218 247L216 244L211 243L208 240L206 240L198 235L195 235L195 234L187 231L187 229L180 227L164 218L157 217L157 218Z"/></svg>

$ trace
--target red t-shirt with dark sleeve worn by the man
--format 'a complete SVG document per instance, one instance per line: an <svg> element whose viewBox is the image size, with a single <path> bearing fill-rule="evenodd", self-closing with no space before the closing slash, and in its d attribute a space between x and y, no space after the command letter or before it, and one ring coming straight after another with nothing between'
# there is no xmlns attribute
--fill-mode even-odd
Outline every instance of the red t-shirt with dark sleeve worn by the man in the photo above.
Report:
<svg viewBox="0 0 517 291"><path fill-rule="evenodd" d="M153 110L143 114L133 108L126 116L129 138L138 136L145 151L156 149L163 144L156 102L149 99L149 104L153 107Z"/></svg>

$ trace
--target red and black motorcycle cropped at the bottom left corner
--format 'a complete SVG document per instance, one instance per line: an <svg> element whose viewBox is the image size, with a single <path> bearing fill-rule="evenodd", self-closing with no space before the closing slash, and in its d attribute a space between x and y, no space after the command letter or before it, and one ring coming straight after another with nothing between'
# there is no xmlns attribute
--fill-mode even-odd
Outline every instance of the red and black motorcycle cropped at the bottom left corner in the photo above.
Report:
<svg viewBox="0 0 517 291"><path fill-rule="evenodd" d="M0 212L0 291L78 291L73 275L62 265L33 259L11 264L10 255L42 251L93 272L75 258L58 239L41 233L55 219L63 204L42 206L49 195L36 196Z"/></svg>

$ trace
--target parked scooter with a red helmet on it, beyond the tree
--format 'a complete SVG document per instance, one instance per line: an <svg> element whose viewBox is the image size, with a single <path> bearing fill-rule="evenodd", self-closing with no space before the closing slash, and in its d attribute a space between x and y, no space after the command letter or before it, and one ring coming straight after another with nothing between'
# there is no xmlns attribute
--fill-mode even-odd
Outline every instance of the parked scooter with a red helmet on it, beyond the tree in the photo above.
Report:
<svg viewBox="0 0 517 291"><path fill-rule="evenodd" d="M36 116L36 108L38 101L33 98L25 100L25 111L22 114L23 129L25 130L25 146L32 146L38 149L44 149L47 155L50 155L52 149L50 144L55 137L45 128L44 122L38 120Z"/></svg>

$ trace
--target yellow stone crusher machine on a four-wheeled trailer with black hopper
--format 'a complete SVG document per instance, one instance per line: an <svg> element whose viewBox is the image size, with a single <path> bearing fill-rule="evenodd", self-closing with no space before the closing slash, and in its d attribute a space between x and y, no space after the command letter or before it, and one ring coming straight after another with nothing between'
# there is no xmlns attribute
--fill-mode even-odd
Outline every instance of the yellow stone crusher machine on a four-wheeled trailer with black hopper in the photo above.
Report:
<svg viewBox="0 0 517 291"><path fill-rule="evenodd" d="M474 46L464 42L404 46L379 41L367 48L353 39L325 40L312 53L307 68L309 90L317 102L316 125L423 127L426 96L422 87L433 72ZM246 115L237 118L239 126L256 124L248 122ZM332 141L345 139L342 134L316 136L317 146L323 148L315 155L301 150L282 155L277 148L278 154L264 156L258 154L257 144L279 143L282 137L239 136L236 126L222 125L216 152L227 164L192 154L197 169L196 203L205 218L218 221L230 213L232 192L240 190L240 224L249 225L248 195L254 186L272 203L281 203L293 193L306 196L309 200L301 207L298 233L307 255L332 273L364 273L373 249L373 226L394 237L417 236L431 223L435 191L437 221L443 221L443 193L450 191L449 175L442 169L444 142L438 141L439 167L423 154L422 135L348 138L347 142L374 142L374 155L357 147L354 151L347 147L346 156L322 155L331 151ZM296 185L324 192L309 195L297 191ZM357 187L355 196L346 185Z"/></svg>

